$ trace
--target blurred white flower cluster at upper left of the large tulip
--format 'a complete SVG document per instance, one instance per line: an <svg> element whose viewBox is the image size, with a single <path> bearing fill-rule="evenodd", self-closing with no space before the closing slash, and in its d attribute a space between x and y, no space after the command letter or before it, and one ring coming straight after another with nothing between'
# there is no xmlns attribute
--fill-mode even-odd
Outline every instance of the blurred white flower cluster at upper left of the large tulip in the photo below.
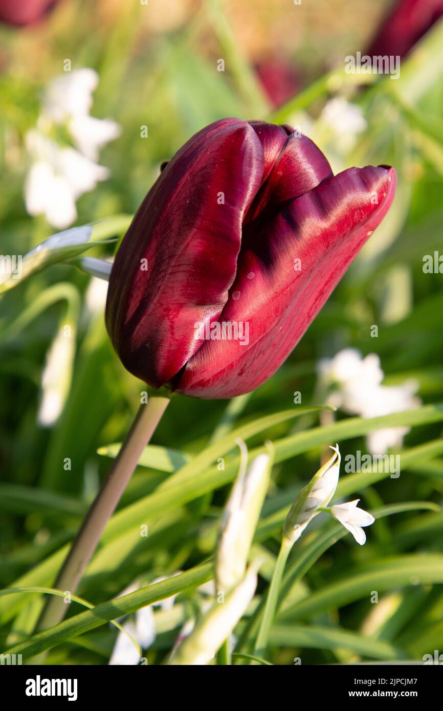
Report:
<svg viewBox="0 0 443 711"><path fill-rule="evenodd" d="M78 198L110 175L95 161L100 149L119 136L120 127L109 119L89 116L97 83L98 75L92 69L56 77L46 89L36 129L26 134L32 160L24 188L26 210L30 215L46 215L55 228L72 224L77 218ZM54 127L60 124L76 148L54 139Z"/></svg>

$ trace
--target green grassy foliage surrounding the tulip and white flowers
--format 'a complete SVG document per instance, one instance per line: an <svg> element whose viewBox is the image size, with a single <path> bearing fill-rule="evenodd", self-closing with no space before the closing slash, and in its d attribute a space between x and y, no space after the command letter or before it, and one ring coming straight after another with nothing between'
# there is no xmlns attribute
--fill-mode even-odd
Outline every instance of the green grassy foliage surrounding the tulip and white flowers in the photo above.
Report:
<svg viewBox="0 0 443 711"><path fill-rule="evenodd" d="M271 440L274 468L253 546L266 565L235 629L233 663L289 664L299 656L304 663L420 661L443 649L443 275L422 269L425 255L442 251L443 24L405 60L399 80L372 75L362 88L333 68L272 113L223 3L203 2L187 24L149 36L134 22L139 9L117 5L115 25L101 28L87 4L73 3L75 23L60 26L55 18L42 58L38 35L29 33L22 47L36 56L36 68L26 79L20 38L2 28L11 52L10 74L0 82L2 254L26 255L56 231L26 214L22 192L25 134L35 124L44 83L62 70L62 54L99 72L94 113L109 115L123 132L100 156L110 179L78 201L78 225L95 223L90 242L33 252L23 259L23 279L0 285L0 583L11 593L0 593L1 650L23 653L26 661L52 650L48 663L105 664L117 634L109 621L178 595L171 609L156 608L157 638L145 652L149 663L164 663L181 626L201 614L198 587L213 578L241 437L250 457ZM218 56L225 58L224 73L215 68ZM43 593L50 592L146 387L118 362L102 307L87 305L89 278L67 260L86 249L112 256L110 238L127 228L161 161L203 125L232 114L298 122L301 110L315 121L333 95L359 105L368 124L358 144L339 156L343 165L392 162L399 173L393 213L374 235L375 246L368 243L287 363L252 395L230 403L172 398L82 579L79 601L93 609L73 605L65 621L34 634ZM146 140L140 139L144 124ZM66 320L75 322L72 377L60 417L42 427L41 376ZM372 324L378 338L370 336ZM378 353L386 382L415 378L422 406L373 419L331 415L316 392L316 363L349 346ZM294 405L294 390L302 393L302 406ZM336 501L360 496L373 510L368 541L359 548L341 526L317 516L289 555L266 655L254 655L294 498L319 468L324 447L338 442L343 459L365 452L365 435L382 427L411 428L394 453L400 478L377 467L354 474L342 468L336 493ZM174 577L154 582L159 576ZM134 581L139 589L118 597Z"/></svg>

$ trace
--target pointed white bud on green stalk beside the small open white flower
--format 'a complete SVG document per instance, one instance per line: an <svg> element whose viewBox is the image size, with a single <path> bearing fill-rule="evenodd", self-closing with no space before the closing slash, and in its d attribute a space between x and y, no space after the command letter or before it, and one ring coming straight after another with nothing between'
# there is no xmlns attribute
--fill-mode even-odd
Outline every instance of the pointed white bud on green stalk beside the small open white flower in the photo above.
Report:
<svg viewBox="0 0 443 711"><path fill-rule="evenodd" d="M330 449L333 449L333 456L301 489L284 522L283 538L290 545L294 545L294 542L300 538L301 533L318 513L319 508L329 504L336 491L340 475L341 454L338 444Z"/></svg>

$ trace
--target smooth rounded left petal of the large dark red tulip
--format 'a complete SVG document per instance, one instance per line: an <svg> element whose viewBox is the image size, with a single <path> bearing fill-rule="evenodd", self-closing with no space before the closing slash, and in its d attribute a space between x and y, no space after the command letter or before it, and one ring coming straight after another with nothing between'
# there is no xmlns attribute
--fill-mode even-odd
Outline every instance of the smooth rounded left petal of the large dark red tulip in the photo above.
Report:
<svg viewBox="0 0 443 711"><path fill-rule="evenodd" d="M107 328L125 367L154 387L201 346L194 324L217 319L228 299L242 220L263 164L249 124L211 124L169 162L124 236L112 267Z"/></svg>

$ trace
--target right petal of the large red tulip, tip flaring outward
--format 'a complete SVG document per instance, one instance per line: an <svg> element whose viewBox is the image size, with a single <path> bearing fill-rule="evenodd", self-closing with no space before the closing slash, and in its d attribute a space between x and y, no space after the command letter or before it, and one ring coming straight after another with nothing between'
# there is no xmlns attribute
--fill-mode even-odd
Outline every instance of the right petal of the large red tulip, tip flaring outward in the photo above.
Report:
<svg viewBox="0 0 443 711"><path fill-rule="evenodd" d="M249 343L204 341L183 370L178 392L233 397L264 383L383 220L396 183L393 168L351 168L289 203L242 252L218 319L249 324ZM301 260L300 270L294 260Z"/></svg>

